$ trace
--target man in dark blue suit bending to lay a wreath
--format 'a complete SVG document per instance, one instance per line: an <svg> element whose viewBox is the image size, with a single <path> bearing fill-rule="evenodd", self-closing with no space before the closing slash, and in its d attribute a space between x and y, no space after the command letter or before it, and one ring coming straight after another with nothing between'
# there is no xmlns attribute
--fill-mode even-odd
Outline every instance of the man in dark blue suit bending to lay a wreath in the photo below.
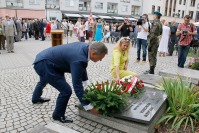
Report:
<svg viewBox="0 0 199 133"><path fill-rule="evenodd" d="M98 113L90 103L82 99L85 93L82 82L88 81L86 71L88 61L101 61L107 53L107 47L101 42L95 42L92 45L74 42L40 52L34 61L34 69L39 75L40 81L33 92L33 104L50 101L50 99L41 97L43 88L49 83L60 92L53 112L53 119L63 123L73 122L72 119L65 117L66 106L72 90L65 80L64 73L71 73L73 88L81 105L91 113Z"/></svg>

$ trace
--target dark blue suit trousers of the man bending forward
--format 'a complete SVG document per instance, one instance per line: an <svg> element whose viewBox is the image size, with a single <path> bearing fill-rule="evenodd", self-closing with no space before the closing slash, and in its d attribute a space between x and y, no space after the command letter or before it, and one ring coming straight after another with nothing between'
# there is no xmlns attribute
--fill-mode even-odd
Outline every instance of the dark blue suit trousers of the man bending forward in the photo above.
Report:
<svg viewBox="0 0 199 133"><path fill-rule="evenodd" d="M33 92L32 101L38 101L41 98L44 87L49 83L59 91L56 101L54 113L56 116L62 117L66 112L66 107L72 94L71 87L66 82L64 73L60 73L54 69L54 64L50 61L43 60L34 65L34 69L40 76Z"/></svg>

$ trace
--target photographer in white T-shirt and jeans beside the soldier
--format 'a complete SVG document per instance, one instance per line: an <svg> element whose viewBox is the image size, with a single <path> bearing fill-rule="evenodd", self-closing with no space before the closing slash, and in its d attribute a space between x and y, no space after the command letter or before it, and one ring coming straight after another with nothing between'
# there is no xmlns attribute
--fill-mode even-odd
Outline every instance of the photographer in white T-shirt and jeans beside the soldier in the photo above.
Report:
<svg viewBox="0 0 199 133"><path fill-rule="evenodd" d="M146 55L147 55L147 36L150 32L150 23L148 22L148 15L142 15L142 22L137 23L137 60L136 62L140 61L140 50L142 47L143 54L142 54L142 62L146 62Z"/></svg>

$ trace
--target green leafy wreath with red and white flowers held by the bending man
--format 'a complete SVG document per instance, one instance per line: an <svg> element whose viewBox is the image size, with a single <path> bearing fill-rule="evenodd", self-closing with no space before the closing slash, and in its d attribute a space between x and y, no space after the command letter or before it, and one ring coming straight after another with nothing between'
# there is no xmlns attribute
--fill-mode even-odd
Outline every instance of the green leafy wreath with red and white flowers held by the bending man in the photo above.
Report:
<svg viewBox="0 0 199 133"><path fill-rule="evenodd" d="M84 100L89 101L94 107L102 112L103 115L111 115L121 112L127 105L127 97L130 94L120 93L119 87L114 81L91 84L86 89Z"/></svg>

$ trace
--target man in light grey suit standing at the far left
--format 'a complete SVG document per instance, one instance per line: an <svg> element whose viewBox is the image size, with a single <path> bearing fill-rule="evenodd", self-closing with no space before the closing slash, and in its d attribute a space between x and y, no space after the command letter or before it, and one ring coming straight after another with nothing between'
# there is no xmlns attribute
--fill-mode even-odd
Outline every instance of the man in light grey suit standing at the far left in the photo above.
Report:
<svg viewBox="0 0 199 133"><path fill-rule="evenodd" d="M3 21L3 34L6 37L8 53L14 53L14 36L17 35L17 30L14 21L8 15Z"/></svg>

